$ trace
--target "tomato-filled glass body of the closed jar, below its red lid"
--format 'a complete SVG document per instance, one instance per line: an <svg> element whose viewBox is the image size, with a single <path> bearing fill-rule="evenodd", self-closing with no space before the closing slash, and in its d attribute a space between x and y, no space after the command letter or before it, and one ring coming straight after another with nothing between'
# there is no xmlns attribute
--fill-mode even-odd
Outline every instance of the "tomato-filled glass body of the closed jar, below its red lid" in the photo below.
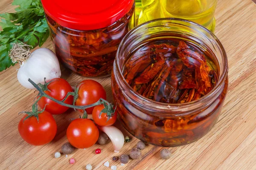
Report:
<svg viewBox="0 0 256 170"><path fill-rule="evenodd" d="M129 31L134 8L111 26L85 31L63 27L46 14L52 43L62 65L84 77L111 74L117 48Z"/></svg>

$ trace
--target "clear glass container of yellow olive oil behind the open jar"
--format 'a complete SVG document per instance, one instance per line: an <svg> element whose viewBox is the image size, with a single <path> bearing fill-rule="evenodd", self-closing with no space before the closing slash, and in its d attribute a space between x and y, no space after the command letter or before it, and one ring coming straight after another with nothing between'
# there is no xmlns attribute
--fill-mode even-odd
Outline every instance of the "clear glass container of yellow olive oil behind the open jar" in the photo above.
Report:
<svg viewBox="0 0 256 170"><path fill-rule="evenodd" d="M217 0L142 0L138 23L175 17L199 23L214 32L216 4Z"/></svg>

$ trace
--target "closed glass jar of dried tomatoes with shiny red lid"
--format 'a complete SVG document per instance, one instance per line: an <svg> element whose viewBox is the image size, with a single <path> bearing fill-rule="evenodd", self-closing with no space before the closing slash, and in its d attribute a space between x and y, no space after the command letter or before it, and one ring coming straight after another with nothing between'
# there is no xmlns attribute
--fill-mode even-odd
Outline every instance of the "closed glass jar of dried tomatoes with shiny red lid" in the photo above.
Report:
<svg viewBox="0 0 256 170"><path fill-rule="evenodd" d="M134 0L41 1L62 65L84 77L110 75L119 43L133 25Z"/></svg>

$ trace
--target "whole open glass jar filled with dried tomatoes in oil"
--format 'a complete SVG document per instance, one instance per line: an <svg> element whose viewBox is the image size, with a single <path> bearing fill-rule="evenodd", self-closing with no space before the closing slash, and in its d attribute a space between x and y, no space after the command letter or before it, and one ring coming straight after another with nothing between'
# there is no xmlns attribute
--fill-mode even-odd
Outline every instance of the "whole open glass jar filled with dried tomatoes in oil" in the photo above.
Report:
<svg viewBox="0 0 256 170"><path fill-rule="evenodd" d="M119 120L148 144L195 142L218 121L227 71L223 46L205 28L169 18L140 25L121 42L114 62Z"/></svg>

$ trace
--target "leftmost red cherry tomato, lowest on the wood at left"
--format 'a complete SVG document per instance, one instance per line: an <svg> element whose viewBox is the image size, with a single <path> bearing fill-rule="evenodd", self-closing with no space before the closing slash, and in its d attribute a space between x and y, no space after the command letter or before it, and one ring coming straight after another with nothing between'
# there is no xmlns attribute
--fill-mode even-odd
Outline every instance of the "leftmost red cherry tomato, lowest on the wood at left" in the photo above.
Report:
<svg viewBox="0 0 256 170"><path fill-rule="evenodd" d="M52 114L44 111L38 114L39 121L32 116L23 122L26 116L28 115L23 116L18 125L20 136L24 141L37 146L51 142L57 133L57 124Z"/></svg>

